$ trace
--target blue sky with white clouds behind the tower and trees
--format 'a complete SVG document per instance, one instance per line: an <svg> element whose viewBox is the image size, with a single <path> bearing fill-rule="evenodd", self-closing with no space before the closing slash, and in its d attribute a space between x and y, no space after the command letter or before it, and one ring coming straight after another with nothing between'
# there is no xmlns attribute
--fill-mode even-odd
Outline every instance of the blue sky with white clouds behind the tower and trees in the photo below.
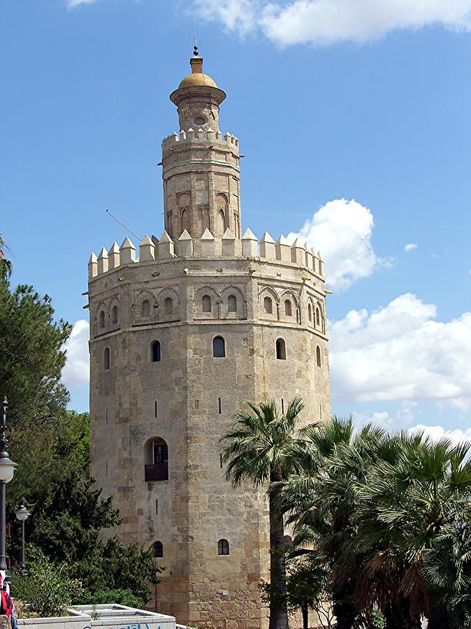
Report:
<svg viewBox="0 0 471 629"><path fill-rule="evenodd" d="M0 0L0 231L13 282L78 321L72 407L87 259L126 236L105 209L163 230L160 143L195 17L246 156L244 229L301 233L331 270L333 411L471 437L471 0L417 4Z"/></svg>

